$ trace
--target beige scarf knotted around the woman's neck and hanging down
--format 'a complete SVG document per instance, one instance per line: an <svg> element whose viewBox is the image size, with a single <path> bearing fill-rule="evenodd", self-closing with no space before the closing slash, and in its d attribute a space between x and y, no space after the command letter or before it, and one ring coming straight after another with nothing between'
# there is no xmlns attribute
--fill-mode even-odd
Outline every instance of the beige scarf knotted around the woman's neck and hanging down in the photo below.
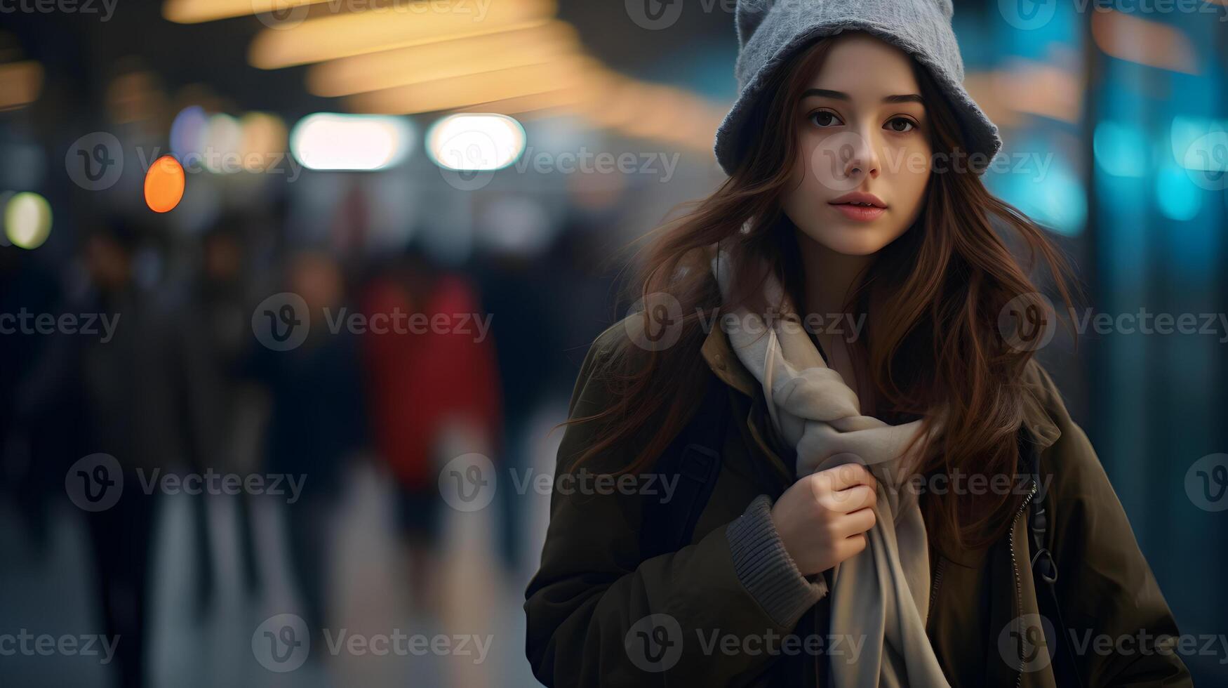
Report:
<svg viewBox="0 0 1228 688"><path fill-rule="evenodd" d="M733 265L729 252L713 251L712 272L727 296ZM921 421L889 425L861 414L857 394L829 369L796 310L769 272L768 303L786 317L765 322L747 308L726 327L738 359L763 383L772 424L797 448L797 477L851 462L866 464L879 480L877 525L866 550L831 571L833 636L865 643L856 662L830 656L831 684L841 688L948 687L925 620L930 607L930 554L916 495L901 489L903 456ZM892 489L884 489L892 488Z"/></svg>

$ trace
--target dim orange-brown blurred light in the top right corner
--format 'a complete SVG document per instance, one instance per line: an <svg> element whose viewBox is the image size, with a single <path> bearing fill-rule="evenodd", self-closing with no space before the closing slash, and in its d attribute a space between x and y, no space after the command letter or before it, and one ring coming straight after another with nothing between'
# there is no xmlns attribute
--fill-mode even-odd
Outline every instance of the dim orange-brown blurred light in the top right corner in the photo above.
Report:
<svg viewBox="0 0 1228 688"><path fill-rule="evenodd" d="M1199 74L1190 39L1176 28L1114 10L1092 12L1092 38L1119 60Z"/></svg>

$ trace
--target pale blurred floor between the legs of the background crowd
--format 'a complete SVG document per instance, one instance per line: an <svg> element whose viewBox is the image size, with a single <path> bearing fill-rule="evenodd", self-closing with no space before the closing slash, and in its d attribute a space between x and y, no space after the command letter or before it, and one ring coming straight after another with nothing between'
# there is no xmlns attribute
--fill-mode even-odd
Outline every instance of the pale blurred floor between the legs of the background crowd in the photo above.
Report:
<svg viewBox="0 0 1228 688"><path fill-rule="evenodd" d="M357 461L348 475L341 517L332 533L335 555L330 623L333 636L340 629L350 634L405 635L491 634L490 652L474 666L472 660L447 656L372 656L346 655L344 650L323 663L313 659L287 673L273 673L262 667L252 652L252 634L265 618L297 607L293 584L289 580L285 552L284 512L278 504L258 502L253 521L259 525L257 552L260 553L262 581L258 598L246 600L239 584L236 559L233 501L214 499L210 520L215 533L211 543L217 561L215 579L219 593L203 623L194 623L195 561L190 527L192 498L168 496L158 518L157 545L151 580L155 581L154 617L150 619L150 654L155 686L193 687L265 687L302 686L446 686L486 683L492 686L537 686L523 660L524 617L521 609L522 573L488 569L475 571L481 581L478 598L492 606L462 616L462 622L446 625L433 614L411 614L408 609L408 575L398 554L392 530L393 495L391 482L378 475L370 462ZM0 520L12 523L12 506L0 505ZM462 514L445 507L443 537L459 547L446 550L453 561L465 561L465 569L500 566L495 553L492 521L496 511L486 509ZM533 538L538 542L538 538ZM470 547L476 544L476 547ZM88 542L84 522L70 509L56 512L45 554L39 558L15 528L0 530L0 552L7 560L0 566L0 608L6 609L6 627L28 629L33 634L82 635L98 633L93 592L90 587ZM462 554L463 553L463 554ZM532 559L532 558L530 558ZM443 577L449 577L445 574ZM459 585L469 585L463 582ZM458 591L460 595L465 590ZM452 595L457 595L453 592ZM449 666L449 661L454 661ZM468 666L465 666L468 665ZM97 659L84 656L11 656L5 657L7 686L79 688L106 687L109 672ZM463 681L463 683L458 683Z"/></svg>

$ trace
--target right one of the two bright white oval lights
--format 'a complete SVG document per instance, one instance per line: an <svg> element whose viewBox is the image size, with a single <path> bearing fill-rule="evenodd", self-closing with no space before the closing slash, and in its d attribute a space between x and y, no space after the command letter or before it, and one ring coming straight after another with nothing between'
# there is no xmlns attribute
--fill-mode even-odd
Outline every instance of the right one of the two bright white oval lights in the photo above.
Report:
<svg viewBox="0 0 1228 688"><path fill-rule="evenodd" d="M503 114L452 114L426 133L426 154L445 170L502 170L524 152L524 128Z"/></svg>

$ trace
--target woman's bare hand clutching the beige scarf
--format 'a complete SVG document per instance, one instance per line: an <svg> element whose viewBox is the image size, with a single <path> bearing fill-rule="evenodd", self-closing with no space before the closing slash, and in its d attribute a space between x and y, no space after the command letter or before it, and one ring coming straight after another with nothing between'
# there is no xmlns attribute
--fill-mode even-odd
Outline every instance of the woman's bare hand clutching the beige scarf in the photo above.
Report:
<svg viewBox="0 0 1228 688"><path fill-rule="evenodd" d="M771 520L802 575L818 574L866 549L878 482L860 463L810 473L776 500Z"/></svg>

